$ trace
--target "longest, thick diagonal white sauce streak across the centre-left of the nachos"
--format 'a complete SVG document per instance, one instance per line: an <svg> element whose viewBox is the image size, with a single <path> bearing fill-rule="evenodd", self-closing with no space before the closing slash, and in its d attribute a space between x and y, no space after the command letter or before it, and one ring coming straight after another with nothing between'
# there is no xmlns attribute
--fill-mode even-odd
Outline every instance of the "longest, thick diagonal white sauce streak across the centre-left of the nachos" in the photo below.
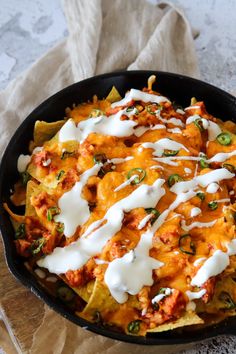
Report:
<svg viewBox="0 0 236 354"><path fill-rule="evenodd" d="M107 241L122 227L124 212L135 208L154 208L161 197L165 194L162 185L163 179L157 179L152 186L142 184L129 196L113 204L101 220L92 223L87 231L76 242L66 247L56 247L53 252L38 261L41 267L47 268L51 273L61 274L69 269L76 270L82 267L90 257L99 254ZM72 208L70 207L70 210ZM105 223L101 226L102 223ZM146 238L141 242L141 249L148 254ZM151 241L150 241L151 242ZM150 244L148 242L148 244ZM137 246L138 247L138 246ZM145 256L146 262L146 256ZM151 264L160 264L156 260ZM111 264L111 263L110 263ZM132 276L130 276L132 278ZM140 280L141 281L141 280ZM148 285L148 284L147 284Z"/></svg>

